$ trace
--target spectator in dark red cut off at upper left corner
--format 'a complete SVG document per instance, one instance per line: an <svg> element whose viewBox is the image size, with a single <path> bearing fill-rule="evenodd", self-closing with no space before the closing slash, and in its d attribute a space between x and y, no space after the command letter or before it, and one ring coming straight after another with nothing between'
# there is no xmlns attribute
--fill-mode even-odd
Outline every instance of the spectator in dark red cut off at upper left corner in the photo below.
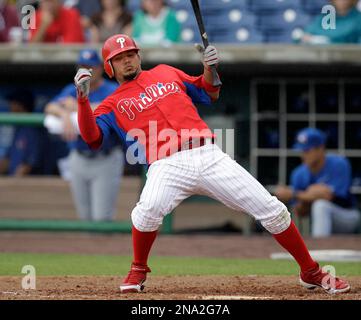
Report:
<svg viewBox="0 0 361 320"><path fill-rule="evenodd" d="M7 0L0 0L0 42L10 41L12 30L19 25L16 6L9 4Z"/></svg>

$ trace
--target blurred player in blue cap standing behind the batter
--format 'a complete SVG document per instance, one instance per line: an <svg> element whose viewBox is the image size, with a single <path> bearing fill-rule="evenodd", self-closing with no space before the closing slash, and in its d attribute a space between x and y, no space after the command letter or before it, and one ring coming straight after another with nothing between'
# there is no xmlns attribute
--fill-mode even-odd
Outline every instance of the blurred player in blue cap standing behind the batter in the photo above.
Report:
<svg viewBox="0 0 361 320"><path fill-rule="evenodd" d="M93 70L89 100L95 109L118 85L103 79L103 64L93 49L80 52L78 66ZM79 217L92 221L112 220L123 174L124 154L117 140L99 151L89 149L79 135L77 107L76 89L71 83L45 107L48 114L45 125L49 131L55 130L60 121L63 137L69 143L70 186ZM54 116L53 122L49 122L49 117Z"/></svg>

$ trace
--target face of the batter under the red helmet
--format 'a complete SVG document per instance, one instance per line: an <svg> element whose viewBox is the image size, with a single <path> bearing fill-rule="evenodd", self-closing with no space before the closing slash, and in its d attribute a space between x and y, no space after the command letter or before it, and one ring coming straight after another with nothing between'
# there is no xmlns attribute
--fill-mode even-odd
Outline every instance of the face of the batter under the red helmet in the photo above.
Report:
<svg viewBox="0 0 361 320"><path fill-rule="evenodd" d="M132 80L140 72L140 57L136 51L126 51L112 59L115 78L119 82Z"/></svg>

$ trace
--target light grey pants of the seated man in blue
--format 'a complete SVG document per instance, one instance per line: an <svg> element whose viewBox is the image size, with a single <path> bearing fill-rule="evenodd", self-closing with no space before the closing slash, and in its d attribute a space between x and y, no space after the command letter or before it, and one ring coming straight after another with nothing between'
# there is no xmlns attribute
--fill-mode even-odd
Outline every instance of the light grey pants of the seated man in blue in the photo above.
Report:
<svg viewBox="0 0 361 320"><path fill-rule="evenodd" d="M357 209L345 209L327 200L316 200L311 207L311 234L328 237L332 233L354 233L360 223Z"/></svg>

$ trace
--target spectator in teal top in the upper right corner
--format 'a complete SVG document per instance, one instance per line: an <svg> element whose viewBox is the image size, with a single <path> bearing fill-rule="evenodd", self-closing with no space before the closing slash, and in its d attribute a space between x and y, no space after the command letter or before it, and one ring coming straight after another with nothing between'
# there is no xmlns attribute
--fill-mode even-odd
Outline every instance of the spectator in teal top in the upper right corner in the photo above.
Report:
<svg viewBox="0 0 361 320"><path fill-rule="evenodd" d="M358 0L331 0L336 9L336 28L325 29L322 25L325 15L320 15L306 28L303 43L361 43L361 12L357 10Z"/></svg>

